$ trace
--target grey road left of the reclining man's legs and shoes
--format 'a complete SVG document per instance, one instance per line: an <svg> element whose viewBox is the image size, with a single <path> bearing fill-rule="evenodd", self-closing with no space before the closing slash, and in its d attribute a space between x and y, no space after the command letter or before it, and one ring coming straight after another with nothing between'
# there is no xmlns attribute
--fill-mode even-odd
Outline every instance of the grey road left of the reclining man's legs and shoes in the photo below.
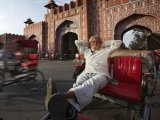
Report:
<svg viewBox="0 0 160 120"><path fill-rule="evenodd" d="M39 70L43 71L45 79L54 78L60 91L65 91L72 86L71 76L74 64L76 62L40 61ZM44 96L45 88L33 92L24 86L9 85L0 93L0 118L3 117L4 120L40 120L46 113Z"/></svg>

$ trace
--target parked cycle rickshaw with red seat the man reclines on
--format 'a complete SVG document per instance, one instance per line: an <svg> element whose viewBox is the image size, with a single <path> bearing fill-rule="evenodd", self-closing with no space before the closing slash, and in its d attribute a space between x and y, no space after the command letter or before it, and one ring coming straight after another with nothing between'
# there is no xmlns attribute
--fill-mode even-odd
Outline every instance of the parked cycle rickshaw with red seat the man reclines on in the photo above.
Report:
<svg viewBox="0 0 160 120"><path fill-rule="evenodd" d="M149 66L153 64L150 52L144 50L118 50L110 56L108 64L109 71L113 78L118 81L118 84L106 85L95 94L93 100L100 99L127 108L126 120L151 120L150 98L155 86L150 84L154 81L152 73L148 73L151 69ZM75 65L74 80L84 68L85 64ZM86 107L86 109L89 107L91 106ZM96 103L92 107L89 109L98 108L98 104ZM86 109L78 113L78 120L93 119L86 116ZM54 120L54 116L52 118L48 113L41 120Z"/></svg>

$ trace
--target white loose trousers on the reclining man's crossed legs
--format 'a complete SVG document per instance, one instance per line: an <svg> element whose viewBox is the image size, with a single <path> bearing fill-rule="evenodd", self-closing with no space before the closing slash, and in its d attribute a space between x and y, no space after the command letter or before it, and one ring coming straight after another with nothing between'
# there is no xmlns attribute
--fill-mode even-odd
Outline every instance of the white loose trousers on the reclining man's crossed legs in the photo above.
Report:
<svg viewBox="0 0 160 120"><path fill-rule="evenodd" d="M78 111L87 106L94 96L94 94L102 89L110 81L110 77L104 74L84 73L82 72L73 84L70 91L74 91L76 99L68 99Z"/></svg>

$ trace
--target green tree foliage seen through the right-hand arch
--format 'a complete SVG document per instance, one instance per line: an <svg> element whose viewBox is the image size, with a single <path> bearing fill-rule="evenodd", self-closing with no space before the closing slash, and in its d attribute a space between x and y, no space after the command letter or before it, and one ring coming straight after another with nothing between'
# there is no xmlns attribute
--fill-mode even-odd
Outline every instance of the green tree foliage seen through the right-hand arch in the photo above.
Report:
<svg viewBox="0 0 160 120"><path fill-rule="evenodd" d="M133 41L130 42L129 48L133 50L145 50L147 49L147 36L145 29L135 28L133 29Z"/></svg>

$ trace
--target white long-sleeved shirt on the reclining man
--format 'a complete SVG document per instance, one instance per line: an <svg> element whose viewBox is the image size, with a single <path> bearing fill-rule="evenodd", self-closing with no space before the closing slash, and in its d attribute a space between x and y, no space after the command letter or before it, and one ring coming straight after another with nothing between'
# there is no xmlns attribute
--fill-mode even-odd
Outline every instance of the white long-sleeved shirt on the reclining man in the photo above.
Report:
<svg viewBox="0 0 160 120"><path fill-rule="evenodd" d="M75 44L81 53L84 53L86 66L85 73L99 73L104 75L110 75L108 70L108 57L114 51L120 48L121 40L110 40L103 43L103 47L100 50L92 53L91 49L88 49L85 41L76 40Z"/></svg>

